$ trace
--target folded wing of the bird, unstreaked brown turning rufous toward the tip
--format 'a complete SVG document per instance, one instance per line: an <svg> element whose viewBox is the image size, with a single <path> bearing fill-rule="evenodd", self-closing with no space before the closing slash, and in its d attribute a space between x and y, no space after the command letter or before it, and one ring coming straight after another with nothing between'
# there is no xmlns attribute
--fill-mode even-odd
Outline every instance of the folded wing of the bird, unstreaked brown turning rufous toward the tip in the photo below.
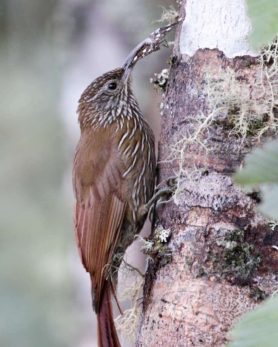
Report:
<svg viewBox="0 0 278 347"><path fill-rule="evenodd" d="M126 209L125 168L117 147L109 141L95 149L83 147L74 161L73 183L75 189L83 189L80 196L75 192L75 238L81 261L91 275L97 310L104 279L113 271L106 265L111 262ZM88 150L95 150L96 155ZM88 154L99 160L88 160Z"/></svg>

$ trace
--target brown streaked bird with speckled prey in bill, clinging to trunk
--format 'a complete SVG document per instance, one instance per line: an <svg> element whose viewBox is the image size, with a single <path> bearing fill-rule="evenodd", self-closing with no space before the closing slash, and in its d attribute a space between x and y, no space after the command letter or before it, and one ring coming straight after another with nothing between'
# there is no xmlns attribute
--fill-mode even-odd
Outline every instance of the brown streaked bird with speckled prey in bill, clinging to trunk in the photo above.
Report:
<svg viewBox="0 0 278 347"><path fill-rule="evenodd" d="M130 53L123 67L95 79L79 100L74 226L79 255L91 277L99 347L120 347L111 305L116 270L150 205L165 193L153 196L155 139L139 109L130 73L136 61L160 48L177 23L157 29Z"/></svg>

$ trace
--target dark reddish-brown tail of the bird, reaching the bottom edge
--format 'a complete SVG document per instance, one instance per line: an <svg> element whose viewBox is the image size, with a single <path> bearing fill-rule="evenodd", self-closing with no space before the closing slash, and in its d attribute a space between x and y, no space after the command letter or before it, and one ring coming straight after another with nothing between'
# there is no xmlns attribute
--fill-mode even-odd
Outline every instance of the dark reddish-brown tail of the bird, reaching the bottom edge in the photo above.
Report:
<svg viewBox="0 0 278 347"><path fill-rule="evenodd" d="M98 347L121 347L113 319L110 286L106 280L100 297L97 322Z"/></svg>

